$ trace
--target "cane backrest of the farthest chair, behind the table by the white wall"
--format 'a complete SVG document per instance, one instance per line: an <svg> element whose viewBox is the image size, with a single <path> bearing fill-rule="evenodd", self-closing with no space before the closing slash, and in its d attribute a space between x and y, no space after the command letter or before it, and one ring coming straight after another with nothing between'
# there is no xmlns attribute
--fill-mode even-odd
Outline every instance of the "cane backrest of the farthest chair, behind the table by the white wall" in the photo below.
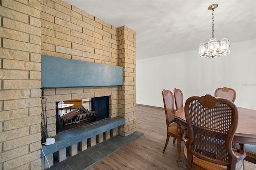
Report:
<svg viewBox="0 0 256 170"><path fill-rule="evenodd" d="M231 88L221 87L215 90L214 96L228 99L234 103L236 100L236 91Z"/></svg>

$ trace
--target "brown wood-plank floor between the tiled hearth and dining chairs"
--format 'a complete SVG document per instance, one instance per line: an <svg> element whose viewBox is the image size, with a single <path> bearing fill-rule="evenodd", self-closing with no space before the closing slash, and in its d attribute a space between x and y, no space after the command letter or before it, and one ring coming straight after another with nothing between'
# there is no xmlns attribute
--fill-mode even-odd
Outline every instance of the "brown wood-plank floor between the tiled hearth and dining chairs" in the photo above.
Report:
<svg viewBox="0 0 256 170"><path fill-rule="evenodd" d="M166 121L164 109L137 105L137 130L142 136L114 152L88 170L185 170L181 156L177 166L177 143L170 137L165 153ZM256 164L245 161L245 170L256 170Z"/></svg>

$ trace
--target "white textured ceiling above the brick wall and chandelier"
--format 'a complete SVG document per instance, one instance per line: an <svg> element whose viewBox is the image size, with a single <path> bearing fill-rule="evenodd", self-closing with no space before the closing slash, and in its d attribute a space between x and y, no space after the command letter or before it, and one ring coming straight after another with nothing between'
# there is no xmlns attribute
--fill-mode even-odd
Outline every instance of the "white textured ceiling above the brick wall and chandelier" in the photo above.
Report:
<svg viewBox="0 0 256 170"><path fill-rule="evenodd" d="M255 0L64 0L100 20L136 31L136 58L197 50L214 37L232 43L256 39ZM230 52L230 53L231 53Z"/></svg>

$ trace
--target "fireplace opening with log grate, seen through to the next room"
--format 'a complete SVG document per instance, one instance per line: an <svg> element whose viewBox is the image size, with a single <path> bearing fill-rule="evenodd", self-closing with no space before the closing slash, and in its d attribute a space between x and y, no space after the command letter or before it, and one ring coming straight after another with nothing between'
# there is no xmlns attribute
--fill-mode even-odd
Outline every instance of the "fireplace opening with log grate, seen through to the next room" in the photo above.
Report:
<svg viewBox="0 0 256 170"><path fill-rule="evenodd" d="M108 98L104 96L56 102L56 132L107 118Z"/></svg>

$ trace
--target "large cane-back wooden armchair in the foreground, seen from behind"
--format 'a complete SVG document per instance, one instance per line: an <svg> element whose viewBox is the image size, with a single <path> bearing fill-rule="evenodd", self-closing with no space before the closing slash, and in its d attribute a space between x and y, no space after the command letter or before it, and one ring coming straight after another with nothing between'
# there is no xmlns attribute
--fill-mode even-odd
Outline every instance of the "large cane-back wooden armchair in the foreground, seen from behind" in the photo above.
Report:
<svg viewBox="0 0 256 170"><path fill-rule="evenodd" d="M238 110L228 99L211 95L186 100L185 116L189 137L184 140L187 169L244 169L244 144L232 148L238 125Z"/></svg>

